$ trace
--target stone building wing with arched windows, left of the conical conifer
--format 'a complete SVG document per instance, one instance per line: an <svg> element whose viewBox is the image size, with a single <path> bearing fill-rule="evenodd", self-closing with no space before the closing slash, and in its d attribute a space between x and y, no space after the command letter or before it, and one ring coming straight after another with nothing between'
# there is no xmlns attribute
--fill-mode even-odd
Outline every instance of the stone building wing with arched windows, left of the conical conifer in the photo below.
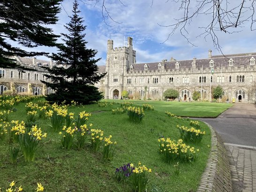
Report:
<svg viewBox="0 0 256 192"><path fill-rule="evenodd" d="M13 59L28 70L14 68L0 68L0 94L12 90L17 94L45 95L52 93L51 88L46 88L40 80L48 81L44 74L47 72L41 66L53 66L52 61L38 60L36 58L22 58L15 56ZM31 70L30 70L31 69Z"/></svg>

